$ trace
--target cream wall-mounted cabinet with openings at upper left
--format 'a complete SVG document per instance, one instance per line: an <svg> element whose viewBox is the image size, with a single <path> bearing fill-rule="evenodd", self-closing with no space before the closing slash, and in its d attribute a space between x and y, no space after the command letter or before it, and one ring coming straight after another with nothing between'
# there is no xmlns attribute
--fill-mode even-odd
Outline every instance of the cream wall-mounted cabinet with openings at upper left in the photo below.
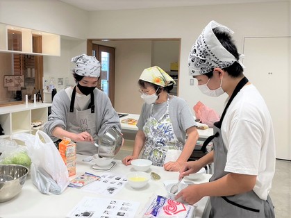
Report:
<svg viewBox="0 0 291 218"><path fill-rule="evenodd" d="M0 52L60 56L60 35L0 24Z"/></svg>

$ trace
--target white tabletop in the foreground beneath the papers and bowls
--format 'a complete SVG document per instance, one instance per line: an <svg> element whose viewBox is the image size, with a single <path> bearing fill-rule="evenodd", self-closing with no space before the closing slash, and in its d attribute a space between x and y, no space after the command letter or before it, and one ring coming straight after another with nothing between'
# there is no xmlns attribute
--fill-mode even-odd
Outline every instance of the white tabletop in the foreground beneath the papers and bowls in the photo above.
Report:
<svg viewBox="0 0 291 218"><path fill-rule="evenodd" d="M95 175L102 175L105 172L94 171L91 168L92 162L83 162L85 156L77 156L76 164L76 176L80 176L85 172L89 172ZM133 171L131 165L125 166L120 160L115 160L117 165L113 167L109 173L126 175L128 172ZM30 176L28 175L22 192L14 199L0 203L0 216L5 218L19 218L19 217L65 217L84 196L98 197L98 198L110 198L120 200L130 200L140 202L138 213L142 211L147 201L149 201L152 194L159 194L167 196L163 181L165 180L177 180L178 172L164 171L163 167L151 166L148 171L155 171L161 176L159 181L149 181L146 187L140 190L134 190L127 183L122 190L119 190L114 196L106 196L102 194L96 194L92 192L85 192L76 188L67 187L66 190L60 195L47 195L42 194L33 185ZM74 176L70 177L70 179ZM210 178L210 174L203 174L203 177L199 181L193 181L194 183L207 182ZM204 197L197 203L196 216L202 217L203 211L208 203L208 197ZM135 217L140 217L135 215Z"/></svg>

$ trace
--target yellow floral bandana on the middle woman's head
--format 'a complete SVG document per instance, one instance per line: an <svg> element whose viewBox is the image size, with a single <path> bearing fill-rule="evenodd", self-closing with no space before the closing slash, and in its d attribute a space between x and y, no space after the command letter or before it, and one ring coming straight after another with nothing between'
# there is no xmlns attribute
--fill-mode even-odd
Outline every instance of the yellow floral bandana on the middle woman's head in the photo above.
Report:
<svg viewBox="0 0 291 218"><path fill-rule="evenodd" d="M162 87L176 84L174 79L169 76L169 74L157 66L144 69L142 75L140 75L140 80L160 85Z"/></svg>

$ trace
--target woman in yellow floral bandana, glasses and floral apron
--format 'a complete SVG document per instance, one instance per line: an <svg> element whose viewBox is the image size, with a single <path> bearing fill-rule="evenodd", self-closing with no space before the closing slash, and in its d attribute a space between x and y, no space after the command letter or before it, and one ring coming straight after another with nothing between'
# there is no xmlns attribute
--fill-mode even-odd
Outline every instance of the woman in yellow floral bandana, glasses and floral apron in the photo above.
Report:
<svg viewBox="0 0 291 218"><path fill-rule="evenodd" d="M153 165L178 171L190 157L199 137L197 124L188 103L170 94L174 84L174 79L157 66L144 69L140 75L139 92L145 103L133 153L122 160L124 165L131 165L142 152L142 158Z"/></svg>

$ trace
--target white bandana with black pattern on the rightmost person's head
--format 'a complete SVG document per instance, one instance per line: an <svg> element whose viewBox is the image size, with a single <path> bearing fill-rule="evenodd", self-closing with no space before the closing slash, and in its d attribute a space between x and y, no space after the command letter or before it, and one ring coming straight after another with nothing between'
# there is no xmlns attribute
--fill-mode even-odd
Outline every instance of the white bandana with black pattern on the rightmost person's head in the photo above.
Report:
<svg viewBox="0 0 291 218"><path fill-rule="evenodd" d="M225 68L238 61L222 44L213 33L213 28L218 27L226 33L233 34L230 28L215 21L211 21L202 31L193 44L188 58L189 73L198 76L211 72L215 67ZM238 61L239 62L239 61ZM239 62L240 63L240 62ZM240 63L242 65L242 63ZM242 67L244 67L242 65Z"/></svg>

